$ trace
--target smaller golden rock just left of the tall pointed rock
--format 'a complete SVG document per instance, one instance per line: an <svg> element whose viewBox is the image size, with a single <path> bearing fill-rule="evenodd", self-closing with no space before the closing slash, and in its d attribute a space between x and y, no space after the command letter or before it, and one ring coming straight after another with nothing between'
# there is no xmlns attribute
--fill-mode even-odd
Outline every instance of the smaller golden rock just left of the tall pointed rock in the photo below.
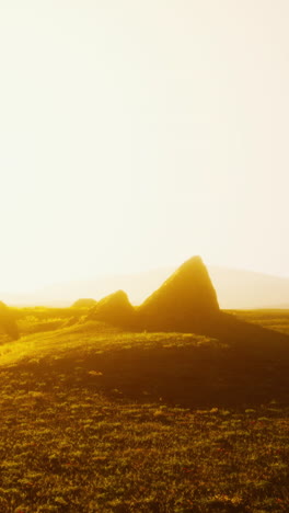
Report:
<svg viewBox="0 0 289 513"><path fill-rule="evenodd" d="M101 299L91 311L90 319L108 322L120 327L131 327L135 308L124 290L117 290Z"/></svg>

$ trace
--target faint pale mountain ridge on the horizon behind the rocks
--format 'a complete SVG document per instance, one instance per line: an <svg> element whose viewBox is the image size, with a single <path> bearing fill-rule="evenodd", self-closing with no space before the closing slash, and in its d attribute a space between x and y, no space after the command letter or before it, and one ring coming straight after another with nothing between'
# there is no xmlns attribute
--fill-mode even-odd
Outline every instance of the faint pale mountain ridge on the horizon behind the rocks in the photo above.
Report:
<svg viewBox="0 0 289 513"><path fill-rule="evenodd" d="M174 267L176 269L176 266ZM69 306L80 297L96 300L124 289L134 305L140 305L174 272L164 267L127 275L105 276L86 281L60 283L34 294L0 294L8 305ZM220 308L289 308L289 278L252 271L208 265L218 294Z"/></svg>

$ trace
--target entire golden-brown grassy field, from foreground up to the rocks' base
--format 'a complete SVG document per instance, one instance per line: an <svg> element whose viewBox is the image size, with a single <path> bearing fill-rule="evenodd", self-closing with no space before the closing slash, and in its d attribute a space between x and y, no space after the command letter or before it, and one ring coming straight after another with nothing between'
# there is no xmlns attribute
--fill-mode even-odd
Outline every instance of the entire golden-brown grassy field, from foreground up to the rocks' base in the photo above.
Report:
<svg viewBox="0 0 289 513"><path fill-rule="evenodd" d="M233 312L289 332L289 311ZM0 512L289 511L288 351L16 311L0 345ZM233 338L232 338L233 339Z"/></svg>

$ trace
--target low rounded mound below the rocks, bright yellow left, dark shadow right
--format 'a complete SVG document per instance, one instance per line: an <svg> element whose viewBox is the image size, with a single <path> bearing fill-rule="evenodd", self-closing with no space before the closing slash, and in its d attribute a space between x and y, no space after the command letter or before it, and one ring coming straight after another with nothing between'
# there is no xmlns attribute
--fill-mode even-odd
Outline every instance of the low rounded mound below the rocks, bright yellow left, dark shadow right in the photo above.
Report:
<svg viewBox="0 0 289 513"><path fill-rule="evenodd" d="M82 360L85 372L101 373L102 392L118 389L131 399L163 397L189 407L253 404L276 397L286 401L289 337L231 319L232 328L241 326L243 331L210 337L134 333L80 318L71 326L1 345L0 365L32 365L41 377L51 366L70 372Z"/></svg>

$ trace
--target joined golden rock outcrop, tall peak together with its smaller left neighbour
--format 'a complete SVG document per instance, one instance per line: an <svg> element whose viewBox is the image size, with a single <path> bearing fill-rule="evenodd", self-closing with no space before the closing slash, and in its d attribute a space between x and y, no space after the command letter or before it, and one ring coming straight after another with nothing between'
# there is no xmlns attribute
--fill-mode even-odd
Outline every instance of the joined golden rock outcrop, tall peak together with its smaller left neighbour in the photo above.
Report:
<svg viewBox="0 0 289 513"><path fill-rule="evenodd" d="M90 311L94 319L123 328L204 332L219 321L217 294L200 256L183 263L146 301L134 308L118 290ZM205 331L206 331L205 330Z"/></svg>

